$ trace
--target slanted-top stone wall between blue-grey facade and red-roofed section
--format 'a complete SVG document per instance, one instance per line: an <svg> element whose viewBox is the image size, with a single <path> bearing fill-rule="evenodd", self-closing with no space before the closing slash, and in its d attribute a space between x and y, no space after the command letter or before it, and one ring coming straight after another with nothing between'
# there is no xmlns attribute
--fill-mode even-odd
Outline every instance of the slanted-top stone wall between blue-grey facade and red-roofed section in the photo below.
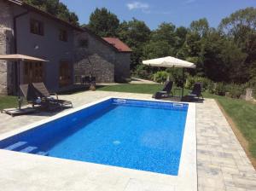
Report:
<svg viewBox="0 0 256 191"><path fill-rule="evenodd" d="M74 38L74 76L96 77L96 82L114 82L115 52L88 32Z"/></svg>

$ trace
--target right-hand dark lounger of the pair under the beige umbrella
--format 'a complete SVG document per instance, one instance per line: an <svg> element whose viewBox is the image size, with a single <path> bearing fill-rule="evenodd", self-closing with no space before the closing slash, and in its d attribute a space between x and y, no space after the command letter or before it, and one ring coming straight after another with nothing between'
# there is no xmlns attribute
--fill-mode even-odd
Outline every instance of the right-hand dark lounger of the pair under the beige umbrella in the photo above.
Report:
<svg viewBox="0 0 256 191"><path fill-rule="evenodd" d="M57 104L61 107L61 109L63 107L73 107L73 104L71 101L59 100L59 97L56 93L49 93L49 90L47 90L43 82L32 83L32 85L43 101L47 101L52 104Z"/></svg>

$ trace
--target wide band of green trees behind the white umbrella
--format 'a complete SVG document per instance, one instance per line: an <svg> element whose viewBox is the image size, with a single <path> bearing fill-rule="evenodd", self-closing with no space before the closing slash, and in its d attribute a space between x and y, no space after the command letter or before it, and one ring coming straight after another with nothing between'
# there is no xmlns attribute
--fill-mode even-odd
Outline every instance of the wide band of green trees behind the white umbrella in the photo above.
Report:
<svg viewBox="0 0 256 191"><path fill-rule="evenodd" d="M105 14L97 14L96 20L105 17ZM113 20L111 18L117 17L108 12L108 20ZM99 23L98 30L108 28L108 22L96 20L90 22ZM133 49L131 70L141 78L153 78L153 73L159 70L143 67L143 60L167 55L194 62L196 69L189 70L189 74L210 78L214 82L243 84L256 76L255 8L230 14L218 28L210 27L205 18L192 21L187 28L164 22L150 31L142 20L136 19L123 21L114 28L117 28L116 32L110 33ZM94 31L100 34L98 30ZM104 30L102 32L107 34Z"/></svg>

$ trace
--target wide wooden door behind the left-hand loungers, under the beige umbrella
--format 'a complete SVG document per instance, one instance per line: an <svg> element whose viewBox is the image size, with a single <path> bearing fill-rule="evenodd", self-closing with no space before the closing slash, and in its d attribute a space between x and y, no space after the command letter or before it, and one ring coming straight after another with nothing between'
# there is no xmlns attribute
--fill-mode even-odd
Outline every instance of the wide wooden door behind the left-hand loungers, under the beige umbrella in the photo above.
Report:
<svg viewBox="0 0 256 191"><path fill-rule="evenodd" d="M40 61L24 62L24 84L44 82L44 66Z"/></svg>

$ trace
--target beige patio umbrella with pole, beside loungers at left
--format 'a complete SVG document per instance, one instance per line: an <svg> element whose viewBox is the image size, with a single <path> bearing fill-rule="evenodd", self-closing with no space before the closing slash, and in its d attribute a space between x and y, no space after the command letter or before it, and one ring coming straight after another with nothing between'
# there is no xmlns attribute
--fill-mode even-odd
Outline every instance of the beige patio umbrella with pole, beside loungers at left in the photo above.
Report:
<svg viewBox="0 0 256 191"><path fill-rule="evenodd" d="M29 56L29 55L19 55L19 54L15 54L15 55L0 55L0 60L3 60L3 61L16 61L17 62L17 70L18 70L18 76L17 76L17 79L18 79L18 102L19 102L19 109L20 110L20 107L21 107L21 100L20 100L20 90L19 90L19 87L20 87L20 61L43 61L43 62L46 62L46 60L43 60L43 59L40 59L40 58L37 58L37 57L32 57L32 56ZM15 113L18 113L18 111L13 111Z"/></svg>

